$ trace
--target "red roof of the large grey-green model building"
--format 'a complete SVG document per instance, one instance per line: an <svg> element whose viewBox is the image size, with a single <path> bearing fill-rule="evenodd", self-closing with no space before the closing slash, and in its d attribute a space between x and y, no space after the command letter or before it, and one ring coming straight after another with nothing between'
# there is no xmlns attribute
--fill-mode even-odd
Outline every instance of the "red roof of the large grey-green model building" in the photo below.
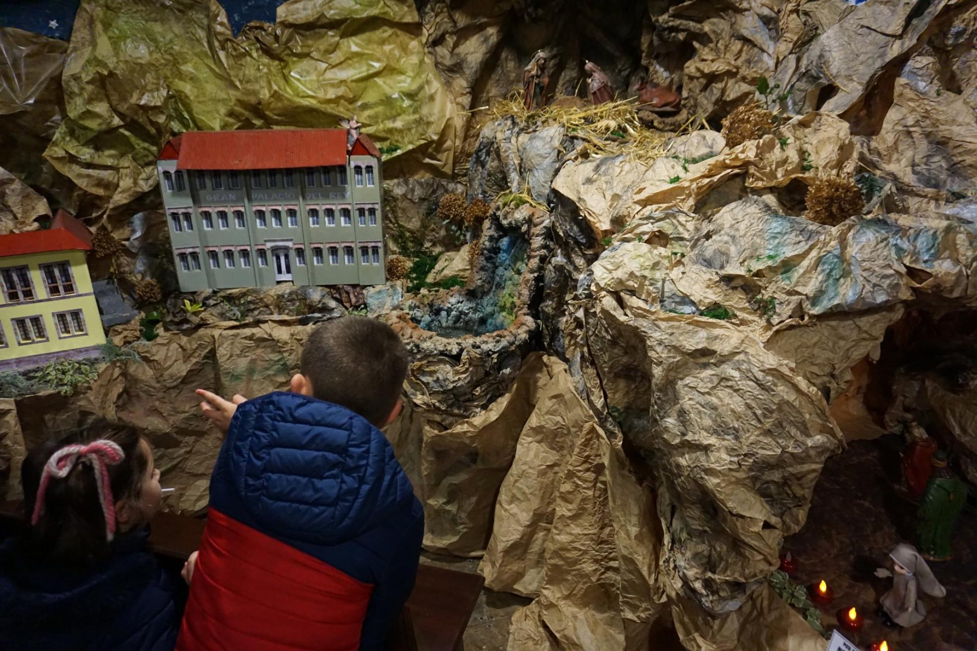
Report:
<svg viewBox="0 0 977 651"><path fill-rule="evenodd" d="M179 170L267 170L346 164L346 129L188 131L170 141ZM172 156L172 152L164 152Z"/></svg>

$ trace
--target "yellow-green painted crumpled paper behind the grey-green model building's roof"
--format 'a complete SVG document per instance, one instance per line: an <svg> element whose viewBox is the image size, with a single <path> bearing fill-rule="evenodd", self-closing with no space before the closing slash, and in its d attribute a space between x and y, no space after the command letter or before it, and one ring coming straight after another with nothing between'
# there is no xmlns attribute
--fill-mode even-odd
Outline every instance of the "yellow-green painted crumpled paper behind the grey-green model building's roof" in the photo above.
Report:
<svg viewBox="0 0 977 651"><path fill-rule="evenodd" d="M219 4L85 0L46 152L107 210L155 186L163 142L191 129L334 127L356 113L403 153L388 175L448 174L453 106L404 3L286 3L234 38ZM369 52L372 67L353 53Z"/></svg>

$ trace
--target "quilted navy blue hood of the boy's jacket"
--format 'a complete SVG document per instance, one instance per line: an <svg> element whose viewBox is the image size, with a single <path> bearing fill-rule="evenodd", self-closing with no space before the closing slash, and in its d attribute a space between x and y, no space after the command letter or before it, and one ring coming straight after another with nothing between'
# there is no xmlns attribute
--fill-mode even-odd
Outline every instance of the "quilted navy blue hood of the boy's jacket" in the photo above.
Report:
<svg viewBox="0 0 977 651"><path fill-rule="evenodd" d="M216 472L276 536L337 545L402 509L413 491L383 432L358 414L298 393L241 404Z"/></svg>

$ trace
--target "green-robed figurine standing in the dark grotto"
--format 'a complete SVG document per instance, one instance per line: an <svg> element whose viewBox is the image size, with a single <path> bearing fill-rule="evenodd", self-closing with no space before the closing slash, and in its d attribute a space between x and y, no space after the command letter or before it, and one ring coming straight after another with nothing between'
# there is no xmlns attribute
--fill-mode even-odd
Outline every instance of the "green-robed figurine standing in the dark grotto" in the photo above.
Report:
<svg viewBox="0 0 977 651"><path fill-rule="evenodd" d="M967 485L947 468L947 453L939 451L930 462L933 473L919 503L916 535L926 560L950 560L956 520L967 500Z"/></svg>

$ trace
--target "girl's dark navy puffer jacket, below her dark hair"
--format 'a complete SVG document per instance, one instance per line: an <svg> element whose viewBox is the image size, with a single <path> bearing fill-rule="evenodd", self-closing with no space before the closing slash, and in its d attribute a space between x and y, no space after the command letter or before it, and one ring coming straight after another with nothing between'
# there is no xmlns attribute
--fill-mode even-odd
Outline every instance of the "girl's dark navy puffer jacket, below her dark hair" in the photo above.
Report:
<svg viewBox="0 0 977 651"><path fill-rule="evenodd" d="M85 572L42 566L15 540L0 547L0 648L172 651L185 593L145 550L147 536L120 536Z"/></svg>

